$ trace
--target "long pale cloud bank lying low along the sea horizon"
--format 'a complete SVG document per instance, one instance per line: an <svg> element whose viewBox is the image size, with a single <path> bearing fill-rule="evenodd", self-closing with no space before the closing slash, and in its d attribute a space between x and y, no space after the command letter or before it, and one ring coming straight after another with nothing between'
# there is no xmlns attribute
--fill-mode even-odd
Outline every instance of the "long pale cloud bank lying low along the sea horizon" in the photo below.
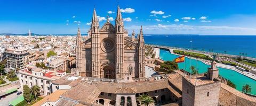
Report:
<svg viewBox="0 0 256 106"><path fill-rule="evenodd" d="M138 30L140 26L126 27L127 30ZM256 28L241 28L228 26L194 26L194 25L145 25L145 34L201 34L201 35L246 35L256 34Z"/></svg>

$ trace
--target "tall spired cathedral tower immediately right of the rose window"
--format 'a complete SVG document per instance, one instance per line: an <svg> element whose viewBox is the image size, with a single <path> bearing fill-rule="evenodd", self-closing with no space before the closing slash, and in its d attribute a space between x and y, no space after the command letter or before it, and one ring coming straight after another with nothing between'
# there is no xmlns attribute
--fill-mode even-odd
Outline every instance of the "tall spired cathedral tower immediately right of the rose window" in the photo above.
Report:
<svg viewBox="0 0 256 106"><path fill-rule="evenodd" d="M117 8L116 15L116 78L124 78L124 22L120 8Z"/></svg>

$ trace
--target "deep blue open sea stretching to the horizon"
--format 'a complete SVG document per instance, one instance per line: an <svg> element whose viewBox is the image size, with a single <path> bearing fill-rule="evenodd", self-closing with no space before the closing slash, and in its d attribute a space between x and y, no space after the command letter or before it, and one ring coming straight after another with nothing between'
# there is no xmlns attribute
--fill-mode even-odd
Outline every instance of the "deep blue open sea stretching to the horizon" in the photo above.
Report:
<svg viewBox="0 0 256 106"><path fill-rule="evenodd" d="M146 34L144 39L147 44L256 58L256 36Z"/></svg>

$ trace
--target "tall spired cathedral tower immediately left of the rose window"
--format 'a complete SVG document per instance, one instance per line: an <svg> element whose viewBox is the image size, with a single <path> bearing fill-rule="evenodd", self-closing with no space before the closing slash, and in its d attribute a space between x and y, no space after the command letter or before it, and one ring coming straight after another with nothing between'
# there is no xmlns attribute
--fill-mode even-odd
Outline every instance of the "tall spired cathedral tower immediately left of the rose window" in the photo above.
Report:
<svg viewBox="0 0 256 106"><path fill-rule="evenodd" d="M100 38L99 38L99 21L97 19L96 10L93 10L92 24L91 24L91 38L92 38L92 77L100 77Z"/></svg>

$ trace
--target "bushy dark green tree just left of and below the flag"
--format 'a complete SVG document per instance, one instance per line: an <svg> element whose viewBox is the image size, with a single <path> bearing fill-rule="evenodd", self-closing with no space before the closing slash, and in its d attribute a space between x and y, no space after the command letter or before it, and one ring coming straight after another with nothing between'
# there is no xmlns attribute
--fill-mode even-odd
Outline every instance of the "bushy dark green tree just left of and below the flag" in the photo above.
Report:
<svg viewBox="0 0 256 106"><path fill-rule="evenodd" d="M160 65L160 72L171 73L175 69L179 69L179 67L174 61L165 61Z"/></svg>

